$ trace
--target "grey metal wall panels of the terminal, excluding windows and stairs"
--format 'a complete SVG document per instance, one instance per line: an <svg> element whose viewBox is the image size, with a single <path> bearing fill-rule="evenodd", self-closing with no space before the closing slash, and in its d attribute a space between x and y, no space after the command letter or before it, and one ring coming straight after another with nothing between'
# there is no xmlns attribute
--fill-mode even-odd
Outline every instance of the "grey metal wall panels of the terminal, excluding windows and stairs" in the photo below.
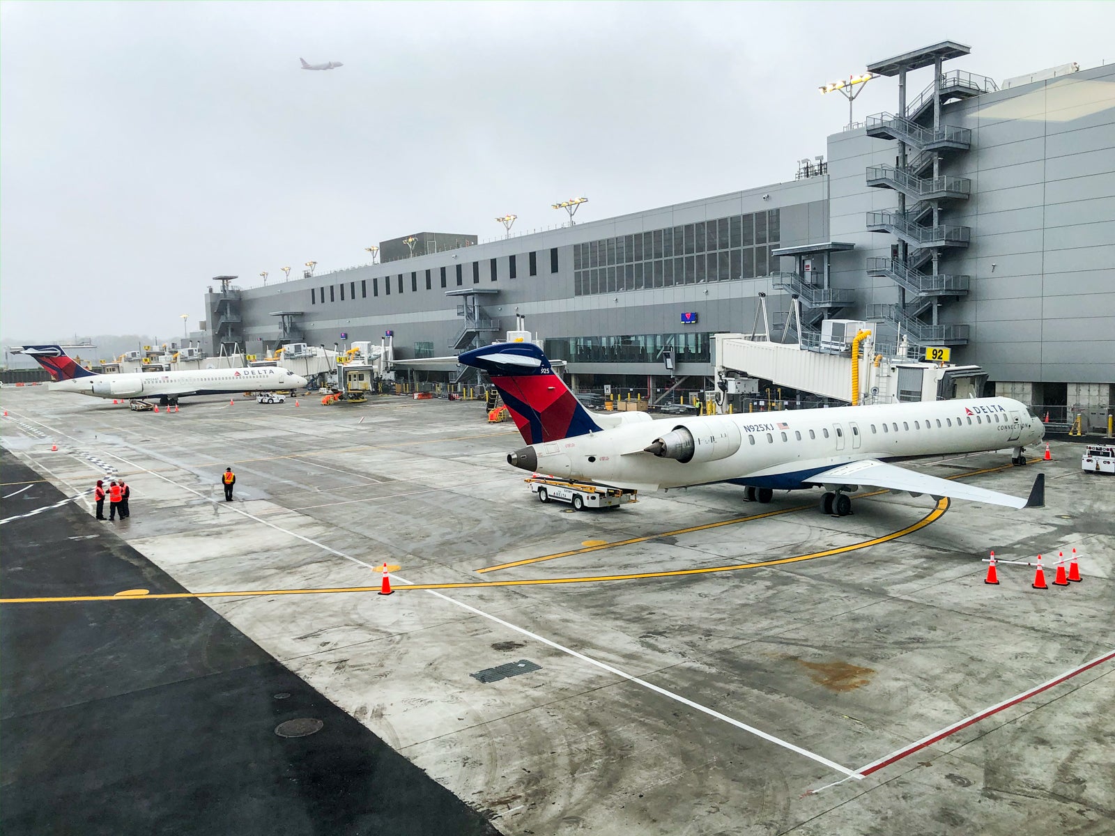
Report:
<svg viewBox="0 0 1115 836"><path fill-rule="evenodd" d="M949 223L971 229L970 244L942 259L948 273L970 276L967 297L939 311L942 323L969 325L968 343L953 349L953 360L983 366L995 381L1115 381L1115 67L946 104L942 119L972 132L971 149L942 164L943 174L971 181L970 197L948 213ZM297 310L304 311L301 329L310 343L331 347L342 341L341 333L347 341L378 341L391 330L397 357L449 354L462 320L459 300L445 293L468 286L498 289L481 303L502 328L512 328L517 312L546 339L746 332L758 292L768 294L775 312L789 304L770 279L721 279L718 272L716 280L706 273L704 281L695 275L691 283L672 286L644 281L638 289L618 284L610 291L601 283L585 293L574 259L586 242L772 210L778 210L775 243L782 247L855 243L850 252L833 253L831 281L854 291L854 305L840 315L862 317L867 305L899 299L891 280L866 272L869 257L890 255L893 239L869 232L865 223L867 212L895 206L894 192L866 182L869 166L894 164L895 146L857 128L828 138L827 175L245 289L245 348L250 353L273 348L279 321L270 314ZM782 263L793 269L792 260ZM681 325L682 312L697 313L697 323ZM661 362L593 359L571 357L570 370L663 373ZM680 375L710 372L704 359L678 368Z"/></svg>

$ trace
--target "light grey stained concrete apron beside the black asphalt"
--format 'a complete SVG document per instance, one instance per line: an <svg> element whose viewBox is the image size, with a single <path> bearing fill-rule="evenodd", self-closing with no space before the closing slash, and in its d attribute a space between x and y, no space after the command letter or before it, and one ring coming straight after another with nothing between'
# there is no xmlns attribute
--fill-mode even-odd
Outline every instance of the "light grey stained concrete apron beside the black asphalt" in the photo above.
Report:
<svg viewBox="0 0 1115 836"><path fill-rule="evenodd" d="M1075 445L918 465L1017 495L1045 473L1020 512L879 494L835 518L820 492L708 486L575 513L533 498L476 402L0 402L4 446L67 496L128 477L133 516L98 525L173 579L25 577L65 600L0 613L195 594L503 833L1115 827L1115 479ZM1073 547L1080 583L983 583L989 550Z"/></svg>

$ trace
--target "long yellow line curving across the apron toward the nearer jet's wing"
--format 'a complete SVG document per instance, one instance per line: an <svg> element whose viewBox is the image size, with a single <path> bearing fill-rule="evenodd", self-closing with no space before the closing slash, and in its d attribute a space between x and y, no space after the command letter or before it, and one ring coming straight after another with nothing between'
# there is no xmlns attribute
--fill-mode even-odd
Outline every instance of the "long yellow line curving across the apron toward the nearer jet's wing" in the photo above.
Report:
<svg viewBox="0 0 1115 836"><path fill-rule="evenodd" d="M944 512L949 509L949 499L942 498L937 503L937 506L929 512L925 516L919 519L917 523L908 525L905 528L901 528L896 532L891 532L889 534L883 534L879 537L872 537L871 539L860 541L859 543L851 543L846 546L836 546L834 548L826 548L822 552L811 552L808 554L799 554L794 557L782 557L773 561L762 561L759 563L734 563L726 566L702 566L698 568L678 568L670 570L667 572L638 572L633 574L624 575L585 575L581 577L539 577L530 580L520 581L463 581L457 583L414 583L406 585L398 585L395 587L396 592L403 592L407 590L473 590L479 587L488 586L549 586L554 584L566 584L566 583L603 583L603 582L614 582L614 581L640 581L652 577L682 577L686 575L707 575L718 572L738 572L745 568L763 568L765 566L783 566L789 563L801 563L802 561L812 561L818 557L831 557L837 554L846 554L849 552L855 552L861 548L869 548L871 546L880 545L882 543L889 543L892 539L898 539L899 537L904 537L908 534L913 534L927 525L940 519ZM337 586L327 589L304 589L304 590L241 590L234 592L168 592L158 594L143 594L138 590L128 590L126 594L117 593L116 595L70 595L61 597L9 597L0 599L0 604L54 604L54 603L66 603L66 602L93 602L93 601L151 601L151 600L168 600L168 599L186 599L186 597L266 597L269 595L330 595L348 592L379 592L379 586Z"/></svg>

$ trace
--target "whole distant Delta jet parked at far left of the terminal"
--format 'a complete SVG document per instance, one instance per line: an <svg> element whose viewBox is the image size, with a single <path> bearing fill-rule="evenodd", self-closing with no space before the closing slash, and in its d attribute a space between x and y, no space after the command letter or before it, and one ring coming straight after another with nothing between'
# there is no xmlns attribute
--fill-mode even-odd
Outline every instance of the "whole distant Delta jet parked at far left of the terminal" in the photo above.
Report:
<svg viewBox="0 0 1115 836"><path fill-rule="evenodd" d="M129 371L98 375L78 366L60 346L23 346L22 353L50 372L47 389L77 392L95 398L158 398L161 405L175 406L187 395L229 395L232 392L287 391L306 386L306 378L281 366L246 369L190 369L186 371Z"/></svg>

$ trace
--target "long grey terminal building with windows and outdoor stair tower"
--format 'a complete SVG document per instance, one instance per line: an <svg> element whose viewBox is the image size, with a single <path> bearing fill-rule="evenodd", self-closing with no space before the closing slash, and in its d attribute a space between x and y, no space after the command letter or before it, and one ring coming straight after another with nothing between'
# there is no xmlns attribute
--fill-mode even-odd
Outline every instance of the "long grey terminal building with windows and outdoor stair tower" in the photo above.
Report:
<svg viewBox="0 0 1115 836"><path fill-rule="evenodd" d="M396 359L438 358L522 315L582 388L655 390L710 378L711 334L752 331L762 300L772 340L821 350L824 320L859 320L881 346L982 367L983 393L1109 405L1115 66L997 82L949 69L968 52L869 65L896 82L893 113L830 136L783 183L483 244L417 233L384 242L380 263L263 288L222 278L207 348L389 331Z"/></svg>

